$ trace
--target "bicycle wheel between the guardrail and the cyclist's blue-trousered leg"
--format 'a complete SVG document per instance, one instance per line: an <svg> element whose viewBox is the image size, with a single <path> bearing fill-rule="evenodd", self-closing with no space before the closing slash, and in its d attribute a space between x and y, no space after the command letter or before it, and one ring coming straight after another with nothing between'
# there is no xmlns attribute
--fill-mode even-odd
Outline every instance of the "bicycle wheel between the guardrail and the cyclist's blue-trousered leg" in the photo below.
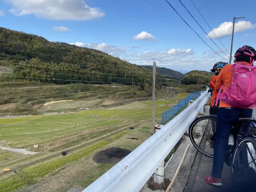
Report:
<svg viewBox="0 0 256 192"><path fill-rule="evenodd" d="M201 116L189 126L189 138L201 153L213 157L213 144L216 132L216 117ZM210 146L211 144L211 146Z"/></svg>

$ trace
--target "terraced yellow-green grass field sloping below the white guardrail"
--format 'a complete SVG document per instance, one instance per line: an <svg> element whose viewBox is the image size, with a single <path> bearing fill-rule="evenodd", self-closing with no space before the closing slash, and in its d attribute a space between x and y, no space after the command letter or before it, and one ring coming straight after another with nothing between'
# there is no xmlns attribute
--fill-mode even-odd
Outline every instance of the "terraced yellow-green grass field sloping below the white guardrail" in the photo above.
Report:
<svg viewBox="0 0 256 192"><path fill-rule="evenodd" d="M156 123L161 121L163 111L170 108L167 102L175 102L183 97L186 94L178 94L176 98L163 103L156 101L159 102L155 108ZM25 155L0 149L0 169L11 169L10 172L0 173L0 192L13 192L23 188L29 191L29 187L41 183L45 177L58 182L55 177L61 176L58 173L60 170L79 165L81 160L91 162L93 154L102 148L119 146L134 150L151 136L151 115L148 102L137 102L102 110L0 119L0 145L29 148L38 152L35 155ZM135 129L129 130L130 126ZM130 137L138 140L129 140ZM38 144L38 148L33 148L34 144ZM68 155L63 157L62 151L67 151ZM86 186L113 166L102 165L104 172L96 174L90 170L97 170L100 165L90 165L84 170L87 176L82 180L87 183ZM78 174L80 168L74 169ZM81 180L74 178L75 176L69 177L66 172L67 183L86 187L81 184ZM45 187L42 191L52 190ZM56 192L62 190L55 185L54 188Z"/></svg>

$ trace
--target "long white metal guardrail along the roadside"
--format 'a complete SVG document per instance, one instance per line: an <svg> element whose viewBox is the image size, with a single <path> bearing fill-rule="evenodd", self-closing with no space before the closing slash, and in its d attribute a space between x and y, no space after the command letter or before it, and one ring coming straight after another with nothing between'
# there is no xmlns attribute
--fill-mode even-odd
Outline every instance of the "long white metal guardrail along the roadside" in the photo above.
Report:
<svg viewBox="0 0 256 192"><path fill-rule="evenodd" d="M205 91L160 131L148 138L83 192L139 192L180 140L208 99L209 93Z"/></svg>

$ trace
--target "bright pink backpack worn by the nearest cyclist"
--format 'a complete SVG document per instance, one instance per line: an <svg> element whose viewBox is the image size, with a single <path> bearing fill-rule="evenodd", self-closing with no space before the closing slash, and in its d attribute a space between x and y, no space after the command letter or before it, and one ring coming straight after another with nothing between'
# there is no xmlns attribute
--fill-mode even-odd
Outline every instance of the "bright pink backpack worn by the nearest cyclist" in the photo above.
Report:
<svg viewBox="0 0 256 192"><path fill-rule="evenodd" d="M224 83L217 96L217 101L231 105L234 108L247 109L256 106L256 67L245 64L233 64L232 81L229 87L225 87ZM225 92L221 93L224 86ZM217 105L216 102L215 105Z"/></svg>

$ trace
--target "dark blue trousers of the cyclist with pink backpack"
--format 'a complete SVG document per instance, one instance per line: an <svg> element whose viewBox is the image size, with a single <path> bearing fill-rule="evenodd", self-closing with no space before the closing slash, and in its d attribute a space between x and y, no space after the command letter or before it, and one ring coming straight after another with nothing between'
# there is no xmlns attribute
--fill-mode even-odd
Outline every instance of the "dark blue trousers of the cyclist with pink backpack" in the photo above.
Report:
<svg viewBox="0 0 256 192"><path fill-rule="evenodd" d="M251 117L252 113L252 109L219 108L216 122L216 140L214 144L212 177L221 178L221 172L224 166L225 151L233 125L237 125L237 128L239 129L241 127L239 117ZM249 126L250 122L245 125L243 131L244 134L247 133Z"/></svg>

